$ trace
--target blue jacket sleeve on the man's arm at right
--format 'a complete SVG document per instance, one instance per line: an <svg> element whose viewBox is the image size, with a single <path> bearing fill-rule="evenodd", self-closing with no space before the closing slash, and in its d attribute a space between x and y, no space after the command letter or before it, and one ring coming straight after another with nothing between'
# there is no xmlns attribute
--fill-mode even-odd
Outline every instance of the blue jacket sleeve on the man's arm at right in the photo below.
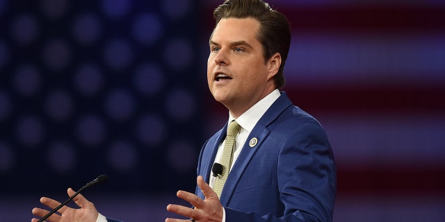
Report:
<svg viewBox="0 0 445 222"><path fill-rule="evenodd" d="M277 181L283 216L226 207L226 221L332 221L336 170L330 144L320 125L306 123L288 135L280 148Z"/></svg>

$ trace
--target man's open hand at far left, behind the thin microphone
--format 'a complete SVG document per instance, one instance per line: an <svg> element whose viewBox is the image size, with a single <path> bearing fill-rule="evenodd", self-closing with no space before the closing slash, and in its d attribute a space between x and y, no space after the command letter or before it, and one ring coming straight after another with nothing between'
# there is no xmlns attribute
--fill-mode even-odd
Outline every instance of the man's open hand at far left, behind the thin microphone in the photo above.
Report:
<svg viewBox="0 0 445 222"><path fill-rule="evenodd" d="M74 195L76 192L73 189L68 189L67 191L68 196ZM97 220L97 216L99 215L99 212L97 212L96 207L93 203L88 201L85 197L82 196L82 194L79 194L74 199L74 202L76 205L81 207L80 209L74 209L72 207L63 206L58 210L59 214L53 214L49 216L47 221L51 222L95 222ZM47 207L54 209L60 203L56 200L53 200L51 198L42 197L40 198L40 203L43 203ZM38 207L35 207L33 209L33 214L35 216L38 216L42 218L45 216L49 211L43 210ZM37 222L38 219L31 219L31 222Z"/></svg>

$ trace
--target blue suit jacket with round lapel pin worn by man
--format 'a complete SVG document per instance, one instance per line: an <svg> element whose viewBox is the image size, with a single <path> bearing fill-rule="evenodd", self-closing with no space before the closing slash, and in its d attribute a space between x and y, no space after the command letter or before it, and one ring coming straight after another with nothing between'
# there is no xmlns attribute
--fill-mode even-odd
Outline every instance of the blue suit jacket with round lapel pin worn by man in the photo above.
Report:
<svg viewBox="0 0 445 222"><path fill-rule="evenodd" d="M226 132L227 124L202 147L197 174L207 182ZM282 92L248 136L220 201L227 222L332 221L336 178L320 123ZM204 199L198 187L195 193Z"/></svg>

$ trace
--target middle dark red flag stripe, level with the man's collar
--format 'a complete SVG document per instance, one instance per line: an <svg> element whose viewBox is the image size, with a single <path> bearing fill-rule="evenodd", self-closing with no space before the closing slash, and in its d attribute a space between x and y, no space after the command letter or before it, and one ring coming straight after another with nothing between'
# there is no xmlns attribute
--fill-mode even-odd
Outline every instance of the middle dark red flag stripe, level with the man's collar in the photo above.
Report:
<svg viewBox="0 0 445 222"><path fill-rule="evenodd" d="M445 87L332 86L324 88L289 86L293 103L307 111L346 112L438 112L445 111Z"/></svg>

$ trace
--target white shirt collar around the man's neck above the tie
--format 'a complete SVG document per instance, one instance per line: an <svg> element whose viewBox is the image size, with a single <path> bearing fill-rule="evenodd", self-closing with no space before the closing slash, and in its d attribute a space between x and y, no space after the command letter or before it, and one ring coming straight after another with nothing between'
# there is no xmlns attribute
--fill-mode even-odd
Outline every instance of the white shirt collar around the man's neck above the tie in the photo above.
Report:
<svg viewBox="0 0 445 222"><path fill-rule="evenodd" d="M250 109L241 114L241 116L236 119L236 122L239 124L239 126L247 130L248 132L252 131L254 126L257 125L259 119L268 110L268 108L270 108L270 105L272 105L272 103L278 99L278 97L280 97L280 90L273 90L273 92L268 94L266 97L258 101L258 103L255 103L255 105L253 105ZM235 118L229 112L229 123L234 119Z"/></svg>

